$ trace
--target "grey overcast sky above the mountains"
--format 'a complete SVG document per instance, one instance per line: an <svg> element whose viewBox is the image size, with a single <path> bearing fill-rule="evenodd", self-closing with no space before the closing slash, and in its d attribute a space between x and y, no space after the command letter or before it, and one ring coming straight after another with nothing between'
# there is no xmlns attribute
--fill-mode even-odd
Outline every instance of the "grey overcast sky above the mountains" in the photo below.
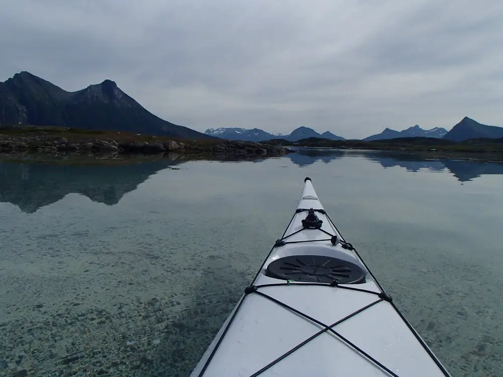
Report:
<svg viewBox="0 0 503 377"><path fill-rule="evenodd" d="M0 54L198 131L503 126L500 0L2 0Z"/></svg>

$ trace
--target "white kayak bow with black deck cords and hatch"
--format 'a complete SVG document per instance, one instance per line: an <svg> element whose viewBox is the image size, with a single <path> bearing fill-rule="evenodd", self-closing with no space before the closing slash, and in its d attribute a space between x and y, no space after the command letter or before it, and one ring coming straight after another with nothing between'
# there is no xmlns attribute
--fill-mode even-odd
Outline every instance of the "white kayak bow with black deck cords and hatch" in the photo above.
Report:
<svg viewBox="0 0 503 377"><path fill-rule="evenodd" d="M337 230L309 177L191 377L259 375L450 376Z"/></svg>

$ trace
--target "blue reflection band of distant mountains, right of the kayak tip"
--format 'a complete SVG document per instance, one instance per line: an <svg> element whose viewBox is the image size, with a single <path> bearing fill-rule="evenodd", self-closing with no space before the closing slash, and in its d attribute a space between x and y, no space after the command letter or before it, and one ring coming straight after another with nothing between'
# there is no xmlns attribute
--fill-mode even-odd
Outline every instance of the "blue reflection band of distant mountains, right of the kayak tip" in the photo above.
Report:
<svg viewBox="0 0 503 377"><path fill-rule="evenodd" d="M361 156L378 162L382 167L400 166L407 171L417 172L420 169L443 171L448 169L461 182L470 181L485 174L503 174L503 163L456 160L450 158L428 158L419 154L395 151L356 151L342 149L298 148L288 154L293 163L308 166L316 161L329 162L345 156Z"/></svg>

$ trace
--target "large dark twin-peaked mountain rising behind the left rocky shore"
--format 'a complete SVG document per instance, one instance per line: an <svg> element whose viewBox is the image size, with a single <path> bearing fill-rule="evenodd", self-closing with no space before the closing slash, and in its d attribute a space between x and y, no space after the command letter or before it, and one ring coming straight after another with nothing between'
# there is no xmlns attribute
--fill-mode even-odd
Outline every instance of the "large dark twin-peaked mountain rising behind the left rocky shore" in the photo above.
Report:
<svg viewBox="0 0 503 377"><path fill-rule="evenodd" d="M26 71L0 82L0 126L18 124L211 138L149 113L112 80L69 92Z"/></svg>

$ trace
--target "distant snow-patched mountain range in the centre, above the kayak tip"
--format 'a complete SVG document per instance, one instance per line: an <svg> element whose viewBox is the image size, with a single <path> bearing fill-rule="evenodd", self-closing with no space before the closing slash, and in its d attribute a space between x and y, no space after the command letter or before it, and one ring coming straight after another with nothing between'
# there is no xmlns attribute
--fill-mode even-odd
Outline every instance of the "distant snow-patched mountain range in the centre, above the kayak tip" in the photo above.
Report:
<svg viewBox="0 0 503 377"><path fill-rule="evenodd" d="M321 137L330 140L346 140L341 136L334 135L328 131L322 134L317 133L309 127L299 127L293 130L288 135L270 134L259 128L247 130L244 128L209 128L204 132L206 135L216 136L227 140L242 140L242 141L265 141L271 139L286 139L289 141L297 141L308 137Z"/></svg>

